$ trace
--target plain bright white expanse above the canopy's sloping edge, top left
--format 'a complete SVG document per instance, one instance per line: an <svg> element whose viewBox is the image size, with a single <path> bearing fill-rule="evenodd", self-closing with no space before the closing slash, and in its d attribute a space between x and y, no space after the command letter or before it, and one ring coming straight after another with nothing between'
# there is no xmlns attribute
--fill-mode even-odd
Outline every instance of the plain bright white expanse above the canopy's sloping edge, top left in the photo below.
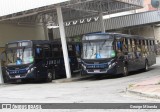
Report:
<svg viewBox="0 0 160 112"><path fill-rule="evenodd" d="M66 1L70 0L0 0L0 16Z"/></svg>

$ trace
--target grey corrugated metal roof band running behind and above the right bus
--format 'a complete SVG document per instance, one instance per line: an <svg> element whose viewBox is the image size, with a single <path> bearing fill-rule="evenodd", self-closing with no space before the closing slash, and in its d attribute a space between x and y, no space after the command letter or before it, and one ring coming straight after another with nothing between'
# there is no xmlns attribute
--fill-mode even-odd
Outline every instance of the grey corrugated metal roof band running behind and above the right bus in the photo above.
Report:
<svg viewBox="0 0 160 112"><path fill-rule="evenodd" d="M136 13L126 16L114 17L110 19L105 19L105 28L106 30L113 30L125 27L139 26L144 24L160 23L160 12L159 11L150 11L143 13ZM78 29L78 30L77 30ZM69 32L67 37L82 35L90 32L98 32L101 30L100 22L91 22L86 24L80 24L75 26L67 27ZM59 29L54 29L54 35L57 36Z"/></svg>

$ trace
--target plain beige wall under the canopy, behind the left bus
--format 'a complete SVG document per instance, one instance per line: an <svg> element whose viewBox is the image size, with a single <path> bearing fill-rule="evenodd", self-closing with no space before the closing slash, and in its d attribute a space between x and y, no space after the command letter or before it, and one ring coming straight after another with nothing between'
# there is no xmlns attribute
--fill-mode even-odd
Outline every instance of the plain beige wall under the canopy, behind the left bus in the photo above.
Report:
<svg viewBox="0 0 160 112"><path fill-rule="evenodd" d="M0 47L17 40L44 40L42 26L27 26L16 24L0 24Z"/></svg>

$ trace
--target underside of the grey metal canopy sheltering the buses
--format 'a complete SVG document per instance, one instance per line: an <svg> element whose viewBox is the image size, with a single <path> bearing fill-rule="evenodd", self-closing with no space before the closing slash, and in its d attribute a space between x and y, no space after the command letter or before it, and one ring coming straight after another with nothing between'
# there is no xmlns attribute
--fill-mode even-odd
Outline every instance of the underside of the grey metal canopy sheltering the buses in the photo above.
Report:
<svg viewBox="0 0 160 112"><path fill-rule="evenodd" d="M112 14L141 8L143 0L60 0L51 5L38 7L0 17L0 21L11 23L57 24L56 6L62 7L64 22L98 16L99 12ZM37 1L38 2L38 1ZM45 2L45 1L44 1Z"/></svg>

